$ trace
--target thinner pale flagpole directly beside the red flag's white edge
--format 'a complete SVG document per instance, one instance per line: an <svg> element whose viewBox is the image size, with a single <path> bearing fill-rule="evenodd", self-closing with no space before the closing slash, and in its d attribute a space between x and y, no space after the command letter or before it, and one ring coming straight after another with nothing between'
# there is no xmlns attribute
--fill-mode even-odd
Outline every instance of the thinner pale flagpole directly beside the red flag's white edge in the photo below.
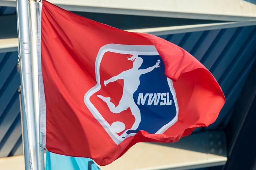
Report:
<svg viewBox="0 0 256 170"><path fill-rule="evenodd" d="M39 84L38 84L38 64L37 64L37 2L29 0L30 12L30 41L31 41L31 58L32 58L32 82L34 94L34 111L36 127L36 149L38 169L44 170L44 150L40 147L40 114L39 114Z"/></svg>

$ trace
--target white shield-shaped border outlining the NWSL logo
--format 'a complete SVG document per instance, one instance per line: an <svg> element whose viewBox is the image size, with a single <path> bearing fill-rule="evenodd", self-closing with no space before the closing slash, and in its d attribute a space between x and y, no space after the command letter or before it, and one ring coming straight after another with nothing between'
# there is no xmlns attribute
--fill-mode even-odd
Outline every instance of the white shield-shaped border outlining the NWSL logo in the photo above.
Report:
<svg viewBox="0 0 256 170"><path fill-rule="evenodd" d="M158 51L155 49L153 45L121 45L121 44L107 44L100 48L96 62L95 62L95 74L96 74L96 86L92 87L87 93L84 95L84 103L88 107L88 109L92 112L93 116L100 122L102 127L106 130L106 132L110 135L113 141L116 144L119 144L124 141L124 139L134 136L135 133L131 133L127 135L125 138L120 137L116 132L111 130L110 124L103 118L100 112L96 109L96 107L90 101L90 97L101 89L100 85L100 63L105 52L115 52L119 54L129 54L129 55L159 55ZM167 124L165 124L162 128L160 128L156 134L162 134L165 130L171 127L178 120L178 104L176 93L173 88L172 80L167 78L168 85L170 87L173 101L176 107L176 115L175 117Z"/></svg>

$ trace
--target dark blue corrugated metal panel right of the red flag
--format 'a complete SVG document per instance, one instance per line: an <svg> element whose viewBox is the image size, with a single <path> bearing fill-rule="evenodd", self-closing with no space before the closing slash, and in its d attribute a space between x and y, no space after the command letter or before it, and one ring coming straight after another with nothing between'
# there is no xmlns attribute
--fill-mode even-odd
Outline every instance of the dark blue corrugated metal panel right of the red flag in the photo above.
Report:
<svg viewBox="0 0 256 170"><path fill-rule="evenodd" d="M200 37L199 37L200 36ZM226 104L207 130L226 125L256 58L256 26L216 29L165 36L209 69L219 82ZM196 130L195 132L198 132Z"/></svg>

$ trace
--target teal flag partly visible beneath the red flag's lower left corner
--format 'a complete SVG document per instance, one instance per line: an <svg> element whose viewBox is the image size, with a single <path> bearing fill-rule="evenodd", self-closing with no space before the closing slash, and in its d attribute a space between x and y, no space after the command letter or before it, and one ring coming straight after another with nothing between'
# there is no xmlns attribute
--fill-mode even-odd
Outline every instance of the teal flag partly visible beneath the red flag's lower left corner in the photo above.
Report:
<svg viewBox="0 0 256 170"><path fill-rule="evenodd" d="M90 158L71 157L46 152L45 170L99 170Z"/></svg>

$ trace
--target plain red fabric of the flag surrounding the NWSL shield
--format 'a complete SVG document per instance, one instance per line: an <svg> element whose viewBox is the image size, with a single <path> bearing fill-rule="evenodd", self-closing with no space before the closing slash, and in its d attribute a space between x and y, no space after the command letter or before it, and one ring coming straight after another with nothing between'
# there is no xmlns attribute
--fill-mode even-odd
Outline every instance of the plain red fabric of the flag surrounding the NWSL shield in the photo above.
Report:
<svg viewBox="0 0 256 170"><path fill-rule="evenodd" d="M139 131L117 145L84 104L84 94L96 85L98 51L109 43L154 45L158 50L179 107L178 121L164 134ZM80 17L47 1L41 15L41 63L48 151L89 157L99 165L110 164L137 142L177 142L196 127L213 123L225 102L212 74L180 47Z"/></svg>

